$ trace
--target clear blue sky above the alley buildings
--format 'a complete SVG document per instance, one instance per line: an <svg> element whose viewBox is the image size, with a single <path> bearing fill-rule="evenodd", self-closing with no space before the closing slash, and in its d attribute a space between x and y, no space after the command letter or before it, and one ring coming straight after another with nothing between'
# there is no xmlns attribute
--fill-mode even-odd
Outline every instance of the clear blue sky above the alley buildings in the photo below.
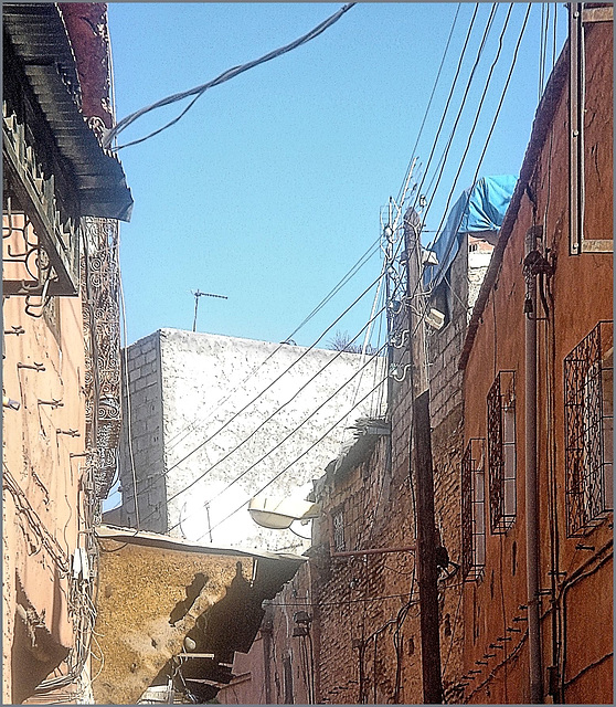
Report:
<svg viewBox="0 0 616 707"><path fill-rule="evenodd" d="M214 78L302 35L341 4L109 3L117 118ZM516 3L484 114L454 188L509 4L499 3L466 102L463 88L491 10L481 4L460 70L452 143L426 228L472 180L527 6ZM566 11L557 8L557 45ZM206 92L177 125L119 151L135 199L121 226L128 342L161 327L286 339L378 241L380 213L401 190L456 3L359 3L308 44ZM475 6L463 3L416 154L425 169ZM542 9L534 4L479 176L517 175L538 104ZM551 46L548 64L551 66ZM119 144L174 117L176 104L137 120ZM435 163L427 172L429 183ZM417 171L421 178L422 172ZM433 235L433 234L428 234ZM426 236L427 238L427 236ZM311 345L379 275L373 256L293 338ZM371 297L336 327L354 336ZM332 334L332 333L331 333ZM331 338L327 335L322 342Z"/></svg>

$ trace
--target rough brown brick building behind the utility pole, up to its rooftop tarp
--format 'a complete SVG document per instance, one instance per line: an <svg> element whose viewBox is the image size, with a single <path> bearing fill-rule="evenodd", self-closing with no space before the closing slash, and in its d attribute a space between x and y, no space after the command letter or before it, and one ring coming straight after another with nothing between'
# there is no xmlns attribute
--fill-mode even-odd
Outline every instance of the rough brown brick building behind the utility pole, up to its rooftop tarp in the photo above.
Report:
<svg viewBox="0 0 616 707"><path fill-rule="evenodd" d="M434 315L437 324L426 336L425 350L432 397L434 521L440 557L445 552L452 560L442 560L434 598L439 612L443 690L449 701L460 696L457 683L464 645L458 621L463 583L457 569L464 405L457 361L493 249L490 241L496 240L513 189L513 179L503 182L507 186L499 196L498 223L482 223L475 226L475 232L459 231L469 228L468 220L464 224L461 220L468 217L472 190L460 197L453 210L454 225L434 245L445 253L452 251L452 239L456 242L452 257L447 262L443 258L446 289L433 287L433 294L422 303L443 315ZM413 223L410 212L400 234L408 253L416 236ZM394 350L389 414L358 422L352 446L328 464L325 475L315 483L314 498L321 513L312 525L308 562L267 603L259 636L248 656L236 656L235 677L219 694L221 701L424 700L416 563L419 519L411 455L415 388L410 374L413 359L406 346L408 326L400 310L391 335Z"/></svg>

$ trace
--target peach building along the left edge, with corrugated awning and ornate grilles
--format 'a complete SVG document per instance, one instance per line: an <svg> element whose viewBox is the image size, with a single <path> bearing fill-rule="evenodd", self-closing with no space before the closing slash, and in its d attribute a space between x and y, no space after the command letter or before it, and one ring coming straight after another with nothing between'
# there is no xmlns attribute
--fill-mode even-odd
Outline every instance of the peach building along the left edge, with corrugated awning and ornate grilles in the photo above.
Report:
<svg viewBox="0 0 616 707"><path fill-rule="evenodd" d="M120 419L117 224L132 199L98 139L105 6L2 15L3 701L71 701L92 695L94 525Z"/></svg>

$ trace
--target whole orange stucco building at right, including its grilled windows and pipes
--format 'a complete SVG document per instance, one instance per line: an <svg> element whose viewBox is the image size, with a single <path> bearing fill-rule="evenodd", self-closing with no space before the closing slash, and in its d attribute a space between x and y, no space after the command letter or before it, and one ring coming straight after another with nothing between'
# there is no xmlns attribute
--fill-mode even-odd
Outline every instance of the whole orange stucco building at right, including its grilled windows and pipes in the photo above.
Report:
<svg viewBox="0 0 616 707"><path fill-rule="evenodd" d="M470 703L613 700L613 24L603 10L573 22L461 357Z"/></svg>

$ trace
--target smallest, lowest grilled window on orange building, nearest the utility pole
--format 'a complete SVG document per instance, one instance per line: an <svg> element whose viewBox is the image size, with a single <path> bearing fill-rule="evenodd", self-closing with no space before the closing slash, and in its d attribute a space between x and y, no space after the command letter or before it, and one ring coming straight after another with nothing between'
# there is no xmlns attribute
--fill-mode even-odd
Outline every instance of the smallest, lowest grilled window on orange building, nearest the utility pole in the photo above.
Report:
<svg viewBox="0 0 616 707"><path fill-rule="evenodd" d="M468 441L461 463L461 571L479 579L486 564L485 440Z"/></svg>

